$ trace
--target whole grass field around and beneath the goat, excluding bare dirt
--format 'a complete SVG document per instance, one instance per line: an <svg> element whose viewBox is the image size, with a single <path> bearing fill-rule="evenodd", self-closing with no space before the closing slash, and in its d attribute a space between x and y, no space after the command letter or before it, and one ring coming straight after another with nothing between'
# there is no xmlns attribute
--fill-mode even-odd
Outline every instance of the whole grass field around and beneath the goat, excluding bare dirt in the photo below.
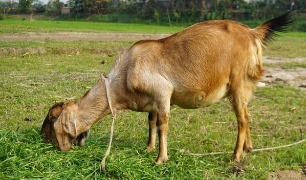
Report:
<svg viewBox="0 0 306 180"><path fill-rule="evenodd" d="M13 22L0 21L0 29L2 32L8 32L10 27L15 28L12 32L27 31L26 28L29 31L32 31L31 28L34 31L38 29L38 32L74 30L74 26L69 24L50 23L45 26L44 22L41 25L12 25ZM97 24L84 23L80 30L92 31L89 27ZM110 31L111 28L103 30ZM118 27L121 28L123 26ZM163 30L164 27L158 27L159 30L156 26L146 28L143 26L134 30L136 28L132 27L130 31L172 32L172 29ZM98 25L92 29L98 29ZM266 54L306 57L303 50L305 36L301 36L280 37L275 44L269 45ZM177 151L185 149L193 153L207 153L234 150L237 121L226 99L205 109L171 108L168 131L168 154L171 158L161 165L152 166L157 150L153 153L143 151L148 138L147 113L121 111L117 114L112 149L106 161L107 173L102 173L100 163L109 141L110 116L91 128L84 148L73 146L69 152L60 152L52 144L43 142L40 128L48 109L55 102L78 100L97 81L99 73L108 72L118 55L117 51L133 43L0 41L0 47L43 47L46 50L45 54L24 57L22 54L25 52L0 55L0 179L263 180L274 171L301 171L306 166L306 143L254 152L242 158L240 163L231 162L231 155L194 157ZM281 48L284 46L287 48ZM293 49L297 50L291 53ZM254 148L280 146L306 138L305 97L305 90L284 85L258 88L248 106Z"/></svg>

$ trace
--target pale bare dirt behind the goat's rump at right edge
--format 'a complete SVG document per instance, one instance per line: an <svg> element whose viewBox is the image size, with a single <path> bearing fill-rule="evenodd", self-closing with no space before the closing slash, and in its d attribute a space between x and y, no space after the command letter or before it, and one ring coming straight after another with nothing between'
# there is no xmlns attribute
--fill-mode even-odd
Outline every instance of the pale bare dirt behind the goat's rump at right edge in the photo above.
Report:
<svg viewBox="0 0 306 180"><path fill-rule="evenodd" d="M303 67L294 67L290 69L283 69L277 67L282 63L303 63L306 61L306 58L270 58L263 57L263 63L274 64L275 67L265 67L267 70L262 82L266 84L284 84L287 86L299 87L306 90L306 68Z"/></svg>

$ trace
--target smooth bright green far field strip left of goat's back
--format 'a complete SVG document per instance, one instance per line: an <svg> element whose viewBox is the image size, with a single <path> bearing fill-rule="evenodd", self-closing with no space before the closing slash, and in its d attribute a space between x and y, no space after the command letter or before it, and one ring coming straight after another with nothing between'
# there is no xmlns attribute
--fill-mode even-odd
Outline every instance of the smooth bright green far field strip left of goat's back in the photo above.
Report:
<svg viewBox="0 0 306 180"><path fill-rule="evenodd" d="M182 27L165 27L145 24L104 23L104 22L69 22L69 21L0 21L0 33L16 32L134 32L134 33L175 33Z"/></svg>

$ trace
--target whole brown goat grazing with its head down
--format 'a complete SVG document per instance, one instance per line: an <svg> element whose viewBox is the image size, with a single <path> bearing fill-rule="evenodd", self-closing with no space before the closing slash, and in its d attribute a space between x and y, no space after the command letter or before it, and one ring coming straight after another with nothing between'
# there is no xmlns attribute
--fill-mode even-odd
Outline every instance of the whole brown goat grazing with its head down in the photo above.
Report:
<svg viewBox="0 0 306 180"><path fill-rule="evenodd" d="M254 29L230 20L206 21L164 39L139 41L121 54L109 71L113 111L149 112L147 150L155 150L157 132L155 163L163 163L168 159L170 106L201 108L228 97L238 121L232 159L239 161L242 152L252 149L247 104L264 72L264 43L290 23L290 13ZM88 134L83 133L110 113L105 78L101 76L78 102L50 109L45 119L49 124L43 129L54 131L50 136L56 137L61 151L68 151L76 139L85 141Z"/></svg>

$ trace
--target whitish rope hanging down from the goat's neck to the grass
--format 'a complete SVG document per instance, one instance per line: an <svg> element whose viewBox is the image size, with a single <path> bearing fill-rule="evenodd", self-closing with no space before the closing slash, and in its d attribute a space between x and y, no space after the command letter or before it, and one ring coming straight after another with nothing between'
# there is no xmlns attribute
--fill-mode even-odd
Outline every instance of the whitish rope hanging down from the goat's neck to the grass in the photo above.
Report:
<svg viewBox="0 0 306 180"><path fill-rule="evenodd" d="M105 156L104 158L102 159L102 162L101 162L101 166L102 166L102 171L105 172L105 160L106 158L109 156L109 152L110 152L110 146L111 146L111 141L112 141L112 135L113 135L113 132L114 132L114 122L115 122L115 119L116 119L116 114L114 114L113 110L112 110L112 107L111 107L111 100L110 100L110 95L109 95L109 81L107 78L105 78L105 88L106 88L106 94L107 94L107 98L108 98L108 101L109 101L109 109L110 109L110 112L111 112L111 128L110 128L110 137L109 137L109 147L105 153Z"/></svg>

